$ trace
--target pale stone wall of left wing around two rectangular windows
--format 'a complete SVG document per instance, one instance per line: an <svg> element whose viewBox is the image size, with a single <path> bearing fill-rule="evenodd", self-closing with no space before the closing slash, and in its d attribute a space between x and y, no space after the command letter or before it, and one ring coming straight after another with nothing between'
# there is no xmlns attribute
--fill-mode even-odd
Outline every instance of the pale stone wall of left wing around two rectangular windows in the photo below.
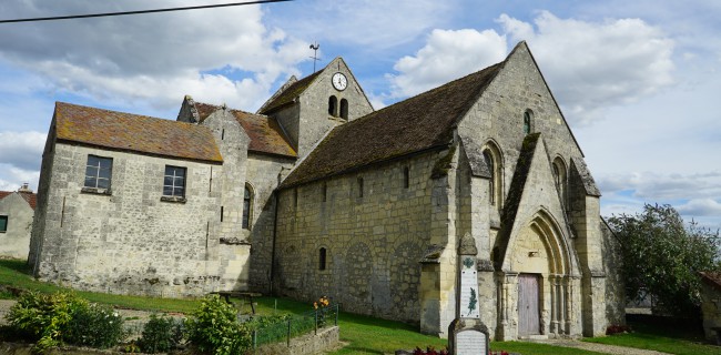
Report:
<svg viewBox="0 0 721 355"><path fill-rule="evenodd" d="M112 195L82 193L88 154L113 159ZM79 290L162 296L217 287L221 165L58 143L49 176L37 275ZM185 166L185 203L161 201L165 165Z"/></svg>

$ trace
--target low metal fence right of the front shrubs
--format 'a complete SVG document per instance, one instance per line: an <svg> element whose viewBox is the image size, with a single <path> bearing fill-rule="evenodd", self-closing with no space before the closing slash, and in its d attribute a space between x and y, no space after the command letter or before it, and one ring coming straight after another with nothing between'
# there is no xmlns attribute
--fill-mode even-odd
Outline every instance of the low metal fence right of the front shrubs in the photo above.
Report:
<svg viewBox="0 0 721 355"><path fill-rule="evenodd" d="M291 339L308 334L318 334L318 329L338 325L338 304L294 315L282 323L272 324L253 331L253 348L261 345L285 342L288 346Z"/></svg>

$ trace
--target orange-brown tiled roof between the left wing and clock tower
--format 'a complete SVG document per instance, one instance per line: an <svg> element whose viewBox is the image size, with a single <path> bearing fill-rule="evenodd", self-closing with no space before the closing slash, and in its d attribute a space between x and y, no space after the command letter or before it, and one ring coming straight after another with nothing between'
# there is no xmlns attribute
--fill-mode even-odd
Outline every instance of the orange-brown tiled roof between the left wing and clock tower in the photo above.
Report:
<svg viewBox="0 0 721 355"><path fill-rule="evenodd" d="M223 106L195 102L195 109L197 110L199 122L203 122L213 112L223 110ZM229 110L229 112L235 116L235 120L251 138L248 151L290 158L297 156L291 142L283 134L281 125L274 119L241 110Z"/></svg>

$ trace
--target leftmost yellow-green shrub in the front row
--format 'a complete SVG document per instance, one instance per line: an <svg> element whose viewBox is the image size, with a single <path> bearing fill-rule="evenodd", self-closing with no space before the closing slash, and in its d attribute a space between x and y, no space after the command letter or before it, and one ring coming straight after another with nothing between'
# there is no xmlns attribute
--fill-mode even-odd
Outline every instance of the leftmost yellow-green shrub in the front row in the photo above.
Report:
<svg viewBox="0 0 721 355"><path fill-rule="evenodd" d="M38 342L37 351L58 346L74 313L88 307L88 301L70 293L23 293L7 320L10 327L28 341Z"/></svg>

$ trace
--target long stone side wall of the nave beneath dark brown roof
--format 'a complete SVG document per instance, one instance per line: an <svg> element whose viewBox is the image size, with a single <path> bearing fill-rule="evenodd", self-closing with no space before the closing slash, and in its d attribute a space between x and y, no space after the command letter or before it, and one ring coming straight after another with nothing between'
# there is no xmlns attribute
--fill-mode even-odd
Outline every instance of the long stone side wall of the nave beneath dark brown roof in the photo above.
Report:
<svg viewBox="0 0 721 355"><path fill-rule="evenodd" d="M427 153L281 191L276 293L307 302L328 295L349 312L419 322L419 261L430 243L437 159Z"/></svg>

